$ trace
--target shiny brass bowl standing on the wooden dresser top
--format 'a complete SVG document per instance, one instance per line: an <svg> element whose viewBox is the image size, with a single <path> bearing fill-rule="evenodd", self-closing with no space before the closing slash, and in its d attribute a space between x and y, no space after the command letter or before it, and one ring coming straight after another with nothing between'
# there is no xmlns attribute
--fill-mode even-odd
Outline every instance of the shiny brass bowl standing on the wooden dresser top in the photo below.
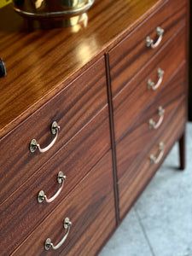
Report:
<svg viewBox="0 0 192 256"><path fill-rule="evenodd" d="M33 20L81 20L95 0L14 0L15 11ZM76 22L73 22L76 23ZM75 25L68 22L69 26ZM78 23L78 21L77 21Z"/></svg>

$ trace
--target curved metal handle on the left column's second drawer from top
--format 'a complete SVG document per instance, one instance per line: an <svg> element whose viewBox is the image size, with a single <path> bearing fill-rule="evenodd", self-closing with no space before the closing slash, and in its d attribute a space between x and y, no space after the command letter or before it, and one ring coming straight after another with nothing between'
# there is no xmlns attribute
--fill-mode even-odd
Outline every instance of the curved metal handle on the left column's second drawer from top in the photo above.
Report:
<svg viewBox="0 0 192 256"><path fill-rule="evenodd" d="M45 200L46 202L50 203L50 202L54 201L55 198L58 195L60 195L65 179L66 179L66 176L64 176L62 172L59 172L57 175L57 183L61 183L60 189L58 189L57 192L55 193L55 195L53 195L49 199L47 198L47 195L44 194L44 190L39 191L38 192L38 202L41 203Z"/></svg>

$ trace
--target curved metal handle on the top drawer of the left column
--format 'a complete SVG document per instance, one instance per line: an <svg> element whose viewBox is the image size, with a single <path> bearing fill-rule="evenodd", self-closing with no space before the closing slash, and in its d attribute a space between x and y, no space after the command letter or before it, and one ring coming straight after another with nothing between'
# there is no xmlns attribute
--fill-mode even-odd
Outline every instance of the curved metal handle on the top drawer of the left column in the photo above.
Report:
<svg viewBox="0 0 192 256"><path fill-rule="evenodd" d="M41 148L40 145L37 143L36 139L32 139L31 143L29 144L29 150L32 153L35 152L35 150L37 148L38 148L40 153L44 153L44 152L48 151L49 148L51 148L55 144L55 141L58 137L59 130L60 130L60 126L57 125L57 122L54 121L53 124L50 127L51 133L55 135L55 138L52 140L52 142L49 143L49 145L46 148Z"/></svg>

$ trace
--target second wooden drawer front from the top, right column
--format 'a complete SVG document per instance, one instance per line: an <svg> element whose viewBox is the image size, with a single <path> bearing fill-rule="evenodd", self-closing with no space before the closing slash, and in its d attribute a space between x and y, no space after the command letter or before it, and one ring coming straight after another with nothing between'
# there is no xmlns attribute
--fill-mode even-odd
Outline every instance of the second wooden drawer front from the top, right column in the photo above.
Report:
<svg viewBox="0 0 192 256"><path fill-rule="evenodd" d="M148 66L139 73L124 90L113 99L113 119L115 141L118 142L125 132L131 129L139 113L147 108L148 103L164 87L172 77L172 73L185 59L185 27L179 30L171 42L150 61ZM173 61L174 60L174 61ZM157 90L148 90L148 79L156 83L158 68L164 70L163 80ZM176 92L177 93L177 92ZM171 93L172 95L172 93Z"/></svg>

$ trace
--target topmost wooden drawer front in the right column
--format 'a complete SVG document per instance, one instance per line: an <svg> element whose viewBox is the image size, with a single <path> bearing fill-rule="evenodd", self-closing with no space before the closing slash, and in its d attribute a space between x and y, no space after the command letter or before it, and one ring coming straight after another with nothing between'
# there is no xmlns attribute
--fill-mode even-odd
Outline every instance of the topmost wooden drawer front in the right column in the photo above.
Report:
<svg viewBox="0 0 192 256"><path fill-rule="evenodd" d="M186 2L180 0L165 1L143 25L114 47L109 53L112 94L115 96L133 76L138 73L160 47L172 38L173 34L183 24L186 16ZM146 46L146 38L155 38L156 27L162 27L165 32L160 45L151 49Z"/></svg>

